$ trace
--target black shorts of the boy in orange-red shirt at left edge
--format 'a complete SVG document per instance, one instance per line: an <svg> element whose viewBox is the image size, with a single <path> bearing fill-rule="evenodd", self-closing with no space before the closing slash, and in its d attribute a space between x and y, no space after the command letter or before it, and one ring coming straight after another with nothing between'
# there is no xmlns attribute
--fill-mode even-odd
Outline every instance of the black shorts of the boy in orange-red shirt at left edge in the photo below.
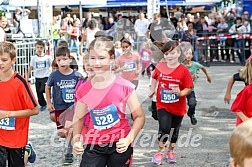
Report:
<svg viewBox="0 0 252 167"><path fill-rule="evenodd" d="M0 166L5 167L8 161L8 167L24 167L25 147L8 148L0 146Z"/></svg>

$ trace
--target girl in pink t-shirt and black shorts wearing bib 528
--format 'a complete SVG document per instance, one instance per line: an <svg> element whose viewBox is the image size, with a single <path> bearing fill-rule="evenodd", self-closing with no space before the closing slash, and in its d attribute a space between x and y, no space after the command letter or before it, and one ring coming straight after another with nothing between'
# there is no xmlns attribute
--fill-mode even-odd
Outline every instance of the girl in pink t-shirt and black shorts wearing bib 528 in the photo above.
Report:
<svg viewBox="0 0 252 167"><path fill-rule="evenodd" d="M110 64L114 61L111 40L97 38L91 42L88 50L95 75L77 91L73 120L74 152L77 155L84 152L81 167L129 167L133 153L131 143L145 120L135 86L110 72ZM126 104L134 118L132 128L126 117ZM82 134L84 149L80 135L88 111L91 120L88 133Z"/></svg>

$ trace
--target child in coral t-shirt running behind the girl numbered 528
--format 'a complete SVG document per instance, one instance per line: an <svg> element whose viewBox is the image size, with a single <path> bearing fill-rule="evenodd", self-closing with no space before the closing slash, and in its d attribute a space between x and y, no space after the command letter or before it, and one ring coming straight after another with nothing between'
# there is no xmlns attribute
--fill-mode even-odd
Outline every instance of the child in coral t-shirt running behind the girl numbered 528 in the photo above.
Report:
<svg viewBox="0 0 252 167"><path fill-rule="evenodd" d="M123 54L116 60L115 73L122 73L122 78L133 83L137 89L139 82L139 56L131 53L131 42L128 40L122 41Z"/></svg>

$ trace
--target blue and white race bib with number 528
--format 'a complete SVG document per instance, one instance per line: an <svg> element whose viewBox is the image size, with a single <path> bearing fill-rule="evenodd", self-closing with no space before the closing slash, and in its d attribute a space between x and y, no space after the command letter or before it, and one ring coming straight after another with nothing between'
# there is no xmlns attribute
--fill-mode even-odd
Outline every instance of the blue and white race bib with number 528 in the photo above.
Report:
<svg viewBox="0 0 252 167"><path fill-rule="evenodd" d="M101 109L91 109L90 114L94 123L94 129L98 130L109 129L120 120L114 104Z"/></svg>

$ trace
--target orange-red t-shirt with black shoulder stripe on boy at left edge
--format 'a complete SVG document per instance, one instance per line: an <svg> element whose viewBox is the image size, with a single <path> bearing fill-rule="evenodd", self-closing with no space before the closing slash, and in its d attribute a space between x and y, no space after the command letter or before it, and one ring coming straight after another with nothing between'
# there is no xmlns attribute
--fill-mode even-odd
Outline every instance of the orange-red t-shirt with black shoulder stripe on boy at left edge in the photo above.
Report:
<svg viewBox="0 0 252 167"><path fill-rule="evenodd" d="M0 82L0 110L18 111L25 109L33 109L37 106L37 101L30 89L27 81L18 73L14 73L12 78L7 82ZM11 118L13 119L13 118ZM11 121L1 120L1 125L9 124ZM0 129L0 145L8 148L25 147L28 142L28 128L30 117L15 118L15 130ZM3 121L3 122L2 122ZM4 128L2 127L1 128ZM6 128L6 127L5 127Z"/></svg>

